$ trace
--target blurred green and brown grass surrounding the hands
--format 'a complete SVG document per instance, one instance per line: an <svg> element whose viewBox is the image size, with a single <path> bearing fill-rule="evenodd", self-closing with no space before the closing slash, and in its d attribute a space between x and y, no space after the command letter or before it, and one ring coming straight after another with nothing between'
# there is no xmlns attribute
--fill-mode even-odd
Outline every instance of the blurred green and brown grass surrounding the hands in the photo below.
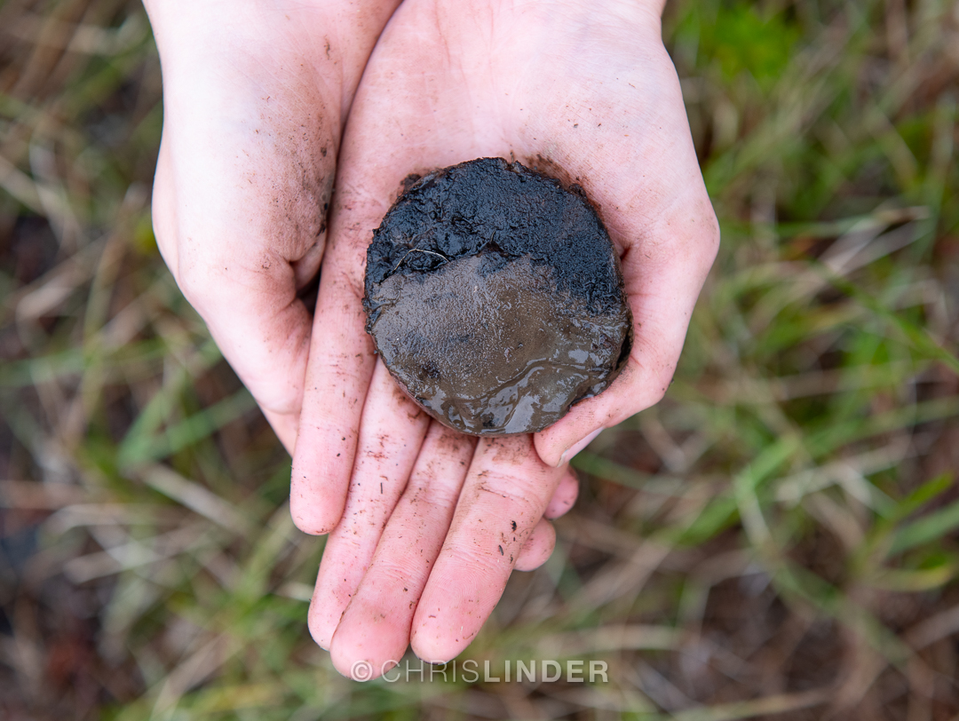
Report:
<svg viewBox="0 0 959 721"><path fill-rule="evenodd" d="M720 257L463 655L609 683L359 685L152 238L142 9L0 3L0 716L959 718L959 5L675 0L665 35Z"/></svg>

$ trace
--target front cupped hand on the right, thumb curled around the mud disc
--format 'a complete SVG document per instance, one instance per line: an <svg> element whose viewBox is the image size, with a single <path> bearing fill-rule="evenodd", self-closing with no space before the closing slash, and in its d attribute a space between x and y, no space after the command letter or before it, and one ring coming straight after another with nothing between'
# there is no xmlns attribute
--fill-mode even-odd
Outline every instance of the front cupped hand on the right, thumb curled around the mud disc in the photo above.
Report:
<svg viewBox="0 0 959 721"><path fill-rule="evenodd" d="M343 673L360 660L379 673L408 641L420 658L455 657L511 570L549 555L543 518L574 498L569 458L667 389L718 229L660 12L407 0L370 58L341 148L291 496L302 529L334 529L310 627ZM483 156L585 189L620 255L635 340L600 396L474 450L430 427L375 361L361 299L371 231L404 177Z"/></svg>

